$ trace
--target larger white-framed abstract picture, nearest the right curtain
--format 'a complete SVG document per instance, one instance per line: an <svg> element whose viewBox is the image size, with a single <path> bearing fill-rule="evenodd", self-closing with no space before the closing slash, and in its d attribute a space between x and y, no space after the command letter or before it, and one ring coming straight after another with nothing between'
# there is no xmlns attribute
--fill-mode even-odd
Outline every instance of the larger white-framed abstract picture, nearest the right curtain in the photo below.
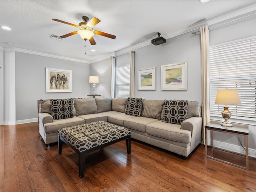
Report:
<svg viewBox="0 0 256 192"><path fill-rule="evenodd" d="M161 66L162 90L187 90L187 62Z"/></svg>

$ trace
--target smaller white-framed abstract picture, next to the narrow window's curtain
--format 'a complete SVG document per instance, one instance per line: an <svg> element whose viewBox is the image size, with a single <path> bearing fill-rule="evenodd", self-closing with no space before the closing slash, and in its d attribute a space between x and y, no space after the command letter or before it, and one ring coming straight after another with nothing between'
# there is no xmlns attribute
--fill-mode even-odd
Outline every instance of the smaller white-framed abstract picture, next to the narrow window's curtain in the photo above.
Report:
<svg viewBox="0 0 256 192"><path fill-rule="evenodd" d="M156 67L138 70L138 90L156 90Z"/></svg>

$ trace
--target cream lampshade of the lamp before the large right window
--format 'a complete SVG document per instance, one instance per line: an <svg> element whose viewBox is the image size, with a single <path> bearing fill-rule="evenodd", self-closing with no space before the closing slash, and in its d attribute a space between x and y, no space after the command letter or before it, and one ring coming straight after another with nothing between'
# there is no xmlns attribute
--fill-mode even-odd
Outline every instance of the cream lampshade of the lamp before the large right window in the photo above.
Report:
<svg viewBox="0 0 256 192"><path fill-rule="evenodd" d="M241 100L236 89L223 89L218 90L216 95L215 104L225 105L238 105Z"/></svg>

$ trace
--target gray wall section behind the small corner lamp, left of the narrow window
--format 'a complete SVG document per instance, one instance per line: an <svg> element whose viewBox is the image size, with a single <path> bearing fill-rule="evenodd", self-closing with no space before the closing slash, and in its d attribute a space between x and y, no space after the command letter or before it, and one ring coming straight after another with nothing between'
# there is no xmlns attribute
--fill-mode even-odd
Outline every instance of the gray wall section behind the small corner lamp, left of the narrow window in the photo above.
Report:
<svg viewBox="0 0 256 192"><path fill-rule="evenodd" d="M90 76L99 76L99 83L96 83L96 94L100 94L101 97L110 97L110 58L92 63L90 68ZM92 83L90 83L90 93L92 93Z"/></svg>

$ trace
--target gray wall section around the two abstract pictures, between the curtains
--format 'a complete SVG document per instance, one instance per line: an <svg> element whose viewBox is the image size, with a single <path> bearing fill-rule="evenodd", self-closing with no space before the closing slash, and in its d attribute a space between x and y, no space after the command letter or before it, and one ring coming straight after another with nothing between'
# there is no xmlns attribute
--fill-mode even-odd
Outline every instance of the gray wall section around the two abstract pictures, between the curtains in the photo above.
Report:
<svg viewBox="0 0 256 192"><path fill-rule="evenodd" d="M200 35L182 34L165 44L135 50L135 96L149 100L182 99L201 103ZM161 66L187 62L187 90L161 90ZM156 91L138 91L137 70L156 67Z"/></svg>

